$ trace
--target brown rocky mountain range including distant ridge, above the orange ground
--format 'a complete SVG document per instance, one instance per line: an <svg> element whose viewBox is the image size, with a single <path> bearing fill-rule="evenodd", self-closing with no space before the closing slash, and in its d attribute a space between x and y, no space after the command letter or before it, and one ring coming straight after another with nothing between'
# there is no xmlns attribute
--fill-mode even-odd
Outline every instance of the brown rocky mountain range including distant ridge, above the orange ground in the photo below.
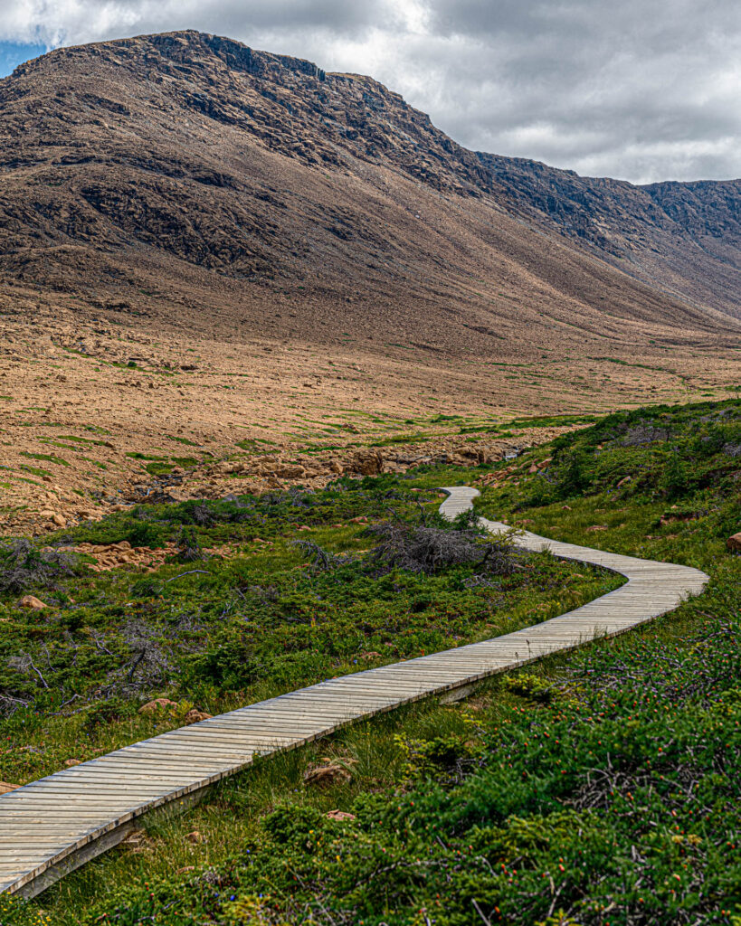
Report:
<svg viewBox="0 0 741 926"><path fill-rule="evenodd" d="M554 319L737 330L738 184L477 155L370 78L200 32L16 69L0 176L6 281L137 318L494 353Z"/></svg>

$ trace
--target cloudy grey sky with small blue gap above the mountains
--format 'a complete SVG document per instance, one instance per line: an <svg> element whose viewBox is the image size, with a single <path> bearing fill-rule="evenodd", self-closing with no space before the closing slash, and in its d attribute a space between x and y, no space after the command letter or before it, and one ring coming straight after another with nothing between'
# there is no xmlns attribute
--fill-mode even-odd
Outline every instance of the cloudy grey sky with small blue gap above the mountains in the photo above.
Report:
<svg viewBox="0 0 741 926"><path fill-rule="evenodd" d="M738 0L2 0L0 74L39 46L176 29L370 74L470 148L741 176Z"/></svg>

